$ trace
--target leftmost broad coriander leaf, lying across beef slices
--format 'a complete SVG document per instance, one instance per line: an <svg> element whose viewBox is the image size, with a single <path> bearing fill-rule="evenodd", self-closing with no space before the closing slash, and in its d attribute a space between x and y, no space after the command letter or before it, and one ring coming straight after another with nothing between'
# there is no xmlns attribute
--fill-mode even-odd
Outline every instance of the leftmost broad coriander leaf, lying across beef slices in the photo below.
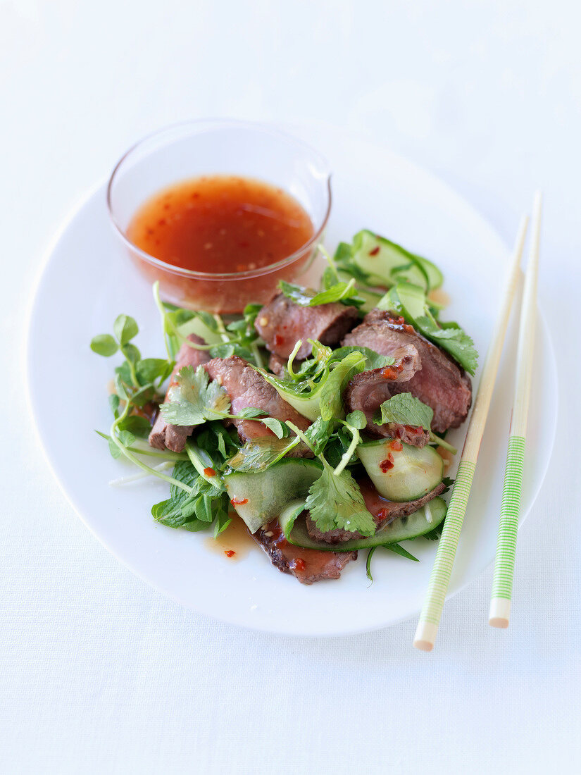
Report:
<svg viewBox="0 0 581 775"><path fill-rule="evenodd" d="M180 369L175 384L170 385L166 401L160 406L163 419L171 425L201 425L206 420L219 420L230 408L228 393L217 381L211 381L201 366Z"/></svg>

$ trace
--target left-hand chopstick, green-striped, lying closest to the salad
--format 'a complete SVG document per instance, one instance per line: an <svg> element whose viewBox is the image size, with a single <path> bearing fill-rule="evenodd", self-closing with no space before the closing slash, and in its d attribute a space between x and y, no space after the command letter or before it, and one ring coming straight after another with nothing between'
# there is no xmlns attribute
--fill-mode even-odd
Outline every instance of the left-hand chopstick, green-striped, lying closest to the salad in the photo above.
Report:
<svg viewBox="0 0 581 775"><path fill-rule="evenodd" d="M442 608L444 608L446 591L448 590L452 574L456 548L460 531L462 530L466 506L468 505L474 470L476 469L476 460L478 460L480 442L482 441L486 417L490 407L490 398L492 398L494 382L497 378L500 353L502 353L514 293L521 274L521 256L527 226L528 218L523 218L518 229L517 241L514 246L507 284L504 288L500 313L493 330L482 376L480 377L480 385L476 394L476 401L474 401L464 449L462 449L462 455L460 456L458 473L456 474L456 482L450 497L444 529L438 543L434 567L431 570L428 594L425 598L424 608L421 609L418 627L415 631L414 646L416 649L421 649L421 651L431 651L434 648L438 625L442 616Z"/></svg>

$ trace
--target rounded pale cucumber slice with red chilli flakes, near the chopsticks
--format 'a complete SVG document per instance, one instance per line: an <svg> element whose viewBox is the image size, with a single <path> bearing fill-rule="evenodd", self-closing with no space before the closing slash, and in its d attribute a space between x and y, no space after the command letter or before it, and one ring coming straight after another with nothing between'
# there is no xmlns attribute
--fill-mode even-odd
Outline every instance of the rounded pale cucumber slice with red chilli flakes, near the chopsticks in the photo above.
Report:
<svg viewBox="0 0 581 775"><path fill-rule="evenodd" d="M390 501L415 501L438 487L444 476L444 461L435 449L401 442L401 449L394 450L392 441L377 439L360 444L356 450L377 492Z"/></svg>

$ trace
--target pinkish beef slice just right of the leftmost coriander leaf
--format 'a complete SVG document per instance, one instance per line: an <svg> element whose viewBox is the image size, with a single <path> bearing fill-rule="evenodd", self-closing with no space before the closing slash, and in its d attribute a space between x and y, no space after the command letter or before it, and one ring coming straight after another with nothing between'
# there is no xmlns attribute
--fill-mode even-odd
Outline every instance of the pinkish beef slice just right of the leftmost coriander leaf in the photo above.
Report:
<svg viewBox="0 0 581 775"><path fill-rule="evenodd" d="M232 402L232 415L238 415L242 409L253 407L262 409L270 417L278 420L290 420L301 431L308 429L311 423L303 415L287 404L283 398L266 382L263 375L242 358L232 355L229 358L214 358L205 363L205 370L211 379L224 387ZM242 441L256 439L259 436L272 436L272 432L256 420L232 420ZM296 447L295 453L305 454L306 449Z"/></svg>

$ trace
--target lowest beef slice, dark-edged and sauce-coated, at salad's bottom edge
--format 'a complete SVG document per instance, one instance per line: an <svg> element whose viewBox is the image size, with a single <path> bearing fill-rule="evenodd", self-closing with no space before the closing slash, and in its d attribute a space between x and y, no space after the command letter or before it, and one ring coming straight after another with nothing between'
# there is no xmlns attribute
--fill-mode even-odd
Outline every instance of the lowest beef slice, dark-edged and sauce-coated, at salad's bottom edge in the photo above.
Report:
<svg viewBox="0 0 581 775"><path fill-rule="evenodd" d="M254 538L270 556L273 565L284 574L292 574L301 584L338 579L346 564L357 559L356 552L322 552L293 546L284 538L276 520L264 525Z"/></svg>

